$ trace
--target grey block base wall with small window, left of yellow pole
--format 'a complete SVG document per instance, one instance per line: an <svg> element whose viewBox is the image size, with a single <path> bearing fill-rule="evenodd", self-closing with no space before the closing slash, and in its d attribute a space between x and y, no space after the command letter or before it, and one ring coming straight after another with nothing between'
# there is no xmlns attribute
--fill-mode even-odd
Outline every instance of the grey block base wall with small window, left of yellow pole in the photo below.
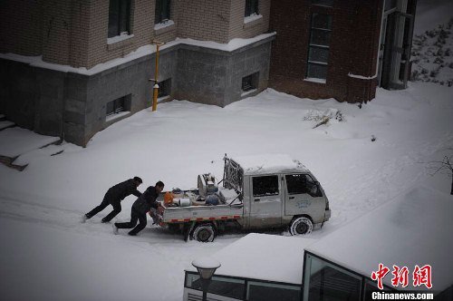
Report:
<svg viewBox="0 0 453 301"><path fill-rule="evenodd" d="M172 84L174 83L176 64L178 62L177 56L177 51L165 50L160 53L160 80L171 78ZM75 81L78 76L71 79L68 84L72 85L74 89L78 85L82 85L81 89L83 89L83 84L85 84L86 94L84 99L84 95L81 98L84 103L73 99L70 101L71 104L66 104L65 116L68 116L69 112L77 113L77 116L71 115L73 117L72 120L65 118L66 140L86 145L96 132L149 107L152 102L152 86L154 84L149 82L149 78L154 75L154 63L155 56L152 54L92 76L83 75L82 79L78 81ZM66 89L68 94L71 94L68 90L68 84ZM123 96L130 98L130 108L128 108L130 113L120 118L106 121L107 103Z"/></svg>

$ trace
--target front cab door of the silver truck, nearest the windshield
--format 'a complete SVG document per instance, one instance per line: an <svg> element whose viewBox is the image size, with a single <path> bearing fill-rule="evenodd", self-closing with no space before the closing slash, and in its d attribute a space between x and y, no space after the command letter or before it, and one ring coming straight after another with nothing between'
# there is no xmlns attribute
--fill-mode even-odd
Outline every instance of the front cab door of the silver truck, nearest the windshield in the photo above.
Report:
<svg viewBox="0 0 453 301"><path fill-rule="evenodd" d="M325 199L323 192L308 174L294 173L284 176L284 215L308 214L316 222L323 218Z"/></svg>

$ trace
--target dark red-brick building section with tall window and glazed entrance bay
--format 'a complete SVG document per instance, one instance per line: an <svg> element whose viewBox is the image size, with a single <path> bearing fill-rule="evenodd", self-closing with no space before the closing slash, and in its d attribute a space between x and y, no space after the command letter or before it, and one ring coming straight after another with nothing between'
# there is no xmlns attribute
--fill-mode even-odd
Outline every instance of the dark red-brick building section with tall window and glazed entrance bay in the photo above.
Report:
<svg viewBox="0 0 453 301"><path fill-rule="evenodd" d="M340 102L371 101L378 84L405 88L415 6L416 0L274 1L269 85Z"/></svg>

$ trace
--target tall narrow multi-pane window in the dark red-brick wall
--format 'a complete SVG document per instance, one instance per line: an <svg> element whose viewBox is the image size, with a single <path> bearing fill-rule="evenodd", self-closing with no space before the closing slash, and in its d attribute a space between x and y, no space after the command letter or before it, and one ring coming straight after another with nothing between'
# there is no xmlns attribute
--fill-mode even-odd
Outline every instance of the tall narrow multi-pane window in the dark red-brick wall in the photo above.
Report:
<svg viewBox="0 0 453 301"><path fill-rule="evenodd" d="M327 78L332 15L313 14L308 48L307 78Z"/></svg>

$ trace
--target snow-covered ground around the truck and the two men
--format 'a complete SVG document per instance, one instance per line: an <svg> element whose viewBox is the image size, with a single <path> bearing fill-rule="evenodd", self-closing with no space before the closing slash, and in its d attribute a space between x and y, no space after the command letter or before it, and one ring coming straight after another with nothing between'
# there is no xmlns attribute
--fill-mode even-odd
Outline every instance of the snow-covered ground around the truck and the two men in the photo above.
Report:
<svg viewBox="0 0 453 301"><path fill-rule="evenodd" d="M449 20L438 23L430 3L442 8L450 2L420 0L419 7L427 8L416 24L419 33ZM314 240L413 193L428 206L429 195L442 193L453 201L451 179L429 175L429 162L453 151L451 91L435 83L410 83L405 91L378 89L376 99L361 109L273 90L223 109L173 101L113 124L87 148L70 143L30 148L24 141L36 139L32 133L0 131L0 150L8 152L0 155L21 154L14 164L29 164L22 172L0 164L1 299L181 300L190 262L245 233L186 243L150 223L138 237L121 230L114 236L111 225L101 224L110 208L85 224L80 218L112 185L133 176L144 180L141 191L157 180L166 189L193 188L197 175L207 171L221 179L225 153L284 152L312 170L333 210L331 220L310 235ZM313 129L324 116L330 121ZM48 139L32 143L42 146ZM418 193L419 187L429 189ZM130 217L133 200L123 200L116 219ZM444 239L452 245L451 237ZM238 265L245 264L237 258Z"/></svg>

